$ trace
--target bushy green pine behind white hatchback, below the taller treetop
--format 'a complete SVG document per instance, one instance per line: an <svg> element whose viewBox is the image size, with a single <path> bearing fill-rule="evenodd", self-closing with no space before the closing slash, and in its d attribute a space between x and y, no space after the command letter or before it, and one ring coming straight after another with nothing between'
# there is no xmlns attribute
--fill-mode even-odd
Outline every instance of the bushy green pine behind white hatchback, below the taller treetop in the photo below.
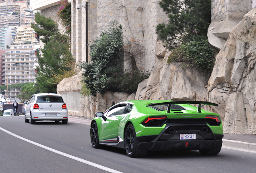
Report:
<svg viewBox="0 0 256 173"><path fill-rule="evenodd" d="M66 49L66 44L58 42L54 37L50 38L41 51L37 66L37 84L43 93L56 93L58 83L53 77L69 69L66 63L72 61L71 52Z"/></svg>

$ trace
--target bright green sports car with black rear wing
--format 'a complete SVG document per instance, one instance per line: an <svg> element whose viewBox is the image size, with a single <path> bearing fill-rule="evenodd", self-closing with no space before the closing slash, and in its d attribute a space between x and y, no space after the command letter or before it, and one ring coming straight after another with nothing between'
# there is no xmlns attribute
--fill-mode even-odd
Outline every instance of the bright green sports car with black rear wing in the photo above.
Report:
<svg viewBox="0 0 256 173"><path fill-rule="evenodd" d="M123 148L129 157L145 157L148 150L199 150L202 155L217 155L223 138L221 118L201 105L218 106L201 101L120 102L95 114L91 144L93 148Z"/></svg>

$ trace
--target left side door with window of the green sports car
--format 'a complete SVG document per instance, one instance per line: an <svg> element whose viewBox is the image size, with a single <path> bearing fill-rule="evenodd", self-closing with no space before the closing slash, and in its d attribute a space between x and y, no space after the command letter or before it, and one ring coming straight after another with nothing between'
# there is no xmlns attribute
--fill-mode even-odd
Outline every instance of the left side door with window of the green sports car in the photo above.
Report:
<svg viewBox="0 0 256 173"><path fill-rule="evenodd" d="M120 119L124 116L126 104L117 105L105 113L106 121L102 119L101 129L99 131L99 140L117 141L117 132Z"/></svg>

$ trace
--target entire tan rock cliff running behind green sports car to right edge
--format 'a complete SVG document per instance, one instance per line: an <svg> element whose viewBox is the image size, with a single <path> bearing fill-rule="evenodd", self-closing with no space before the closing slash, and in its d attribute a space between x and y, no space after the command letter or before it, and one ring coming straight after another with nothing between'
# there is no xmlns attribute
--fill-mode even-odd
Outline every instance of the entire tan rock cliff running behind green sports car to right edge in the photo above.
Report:
<svg viewBox="0 0 256 173"><path fill-rule="evenodd" d="M139 84L136 93L81 97L80 107L71 111L72 115L93 118L96 112L133 99L210 101L219 107L203 109L219 113L225 133L256 134L256 10L252 9L255 5L256 0L212 0L208 36L220 51L211 76L184 69L179 63L167 64L168 53L156 42L153 71ZM70 80L79 85L74 78ZM79 83L81 79L75 80ZM76 91L66 80L57 87L59 93L68 90Z"/></svg>

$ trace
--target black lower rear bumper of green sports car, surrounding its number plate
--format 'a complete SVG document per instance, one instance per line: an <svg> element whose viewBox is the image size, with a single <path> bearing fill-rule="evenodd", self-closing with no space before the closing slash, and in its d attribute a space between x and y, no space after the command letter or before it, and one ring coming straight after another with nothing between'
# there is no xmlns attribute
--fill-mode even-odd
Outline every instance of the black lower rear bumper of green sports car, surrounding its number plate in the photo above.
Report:
<svg viewBox="0 0 256 173"><path fill-rule="evenodd" d="M183 128L194 130L176 130L170 133L168 129L173 127L174 129ZM178 127L178 128L176 128ZM203 133L202 127L208 127L209 131ZM196 134L196 139L180 140L180 134ZM178 125L171 126L167 125L165 129L159 135L149 135L137 137L140 142L138 147L148 149L151 151L168 151L168 150L207 150L213 147L218 147L222 145L222 138L224 135L213 134L211 128L208 125Z"/></svg>

